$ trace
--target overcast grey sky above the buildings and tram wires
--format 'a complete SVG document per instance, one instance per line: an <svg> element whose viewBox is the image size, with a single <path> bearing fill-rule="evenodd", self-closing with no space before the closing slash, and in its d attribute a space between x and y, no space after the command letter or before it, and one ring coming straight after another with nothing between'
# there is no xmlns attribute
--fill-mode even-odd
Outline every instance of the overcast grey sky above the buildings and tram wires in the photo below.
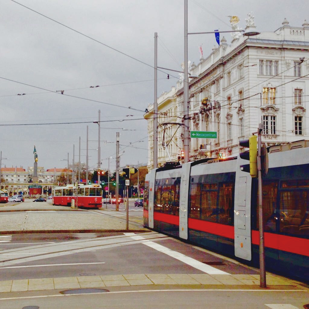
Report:
<svg viewBox="0 0 309 309"><path fill-rule="evenodd" d="M110 156L110 168L115 169L116 132L120 132L120 154L125 151L121 166L147 163L147 122L143 111L154 98L154 33L158 32L158 66L181 70L184 1L17 2L28 8L1 0L0 10L0 150L2 158L9 159L2 160L2 167L23 166L27 170L33 166L34 145L38 166L45 170L66 167L67 161L60 160L66 160L69 152L72 163L73 144L78 161L79 136L81 161L85 162L87 125L89 167L96 167L98 125L92 122L98 120L99 109L101 121L107 121L101 122L101 141L107 141L101 142L102 169L107 168ZM308 1L299 0L188 0L188 32L218 28L228 31L231 28L227 15L239 16L239 27L245 28L245 18L251 11L260 32L275 31L284 18L291 26L301 27L304 19L309 21L308 8ZM230 43L231 35L225 37ZM191 63L199 62L201 44L206 58L217 43L212 34L189 36ZM176 78L167 80L167 75L159 72L158 96L176 82ZM42 123L68 124L33 125Z"/></svg>

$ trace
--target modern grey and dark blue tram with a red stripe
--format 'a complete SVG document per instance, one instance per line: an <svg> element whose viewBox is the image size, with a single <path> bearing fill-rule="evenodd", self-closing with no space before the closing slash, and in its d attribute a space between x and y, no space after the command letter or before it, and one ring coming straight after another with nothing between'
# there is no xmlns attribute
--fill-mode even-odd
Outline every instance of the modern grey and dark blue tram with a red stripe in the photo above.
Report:
<svg viewBox="0 0 309 309"><path fill-rule="evenodd" d="M266 269L309 281L309 142L268 148L262 179ZM239 156L146 175L144 225L259 265L257 179Z"/></svg>

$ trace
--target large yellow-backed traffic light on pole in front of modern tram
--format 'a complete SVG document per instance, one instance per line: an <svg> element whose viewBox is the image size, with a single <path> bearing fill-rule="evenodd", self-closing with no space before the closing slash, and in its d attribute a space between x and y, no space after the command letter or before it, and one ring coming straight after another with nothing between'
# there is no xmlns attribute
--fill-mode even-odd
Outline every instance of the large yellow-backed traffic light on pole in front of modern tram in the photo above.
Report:
<svg viewBox="0 0 309 309"><path fill-rule="evenodd" d="M252 135L249 139L239 141L241 147L249 148L239 154L241 159L249 160L249 164L241 165L240 169L244 172L250 172L252 178L257 177L257 136Z"/></svg>

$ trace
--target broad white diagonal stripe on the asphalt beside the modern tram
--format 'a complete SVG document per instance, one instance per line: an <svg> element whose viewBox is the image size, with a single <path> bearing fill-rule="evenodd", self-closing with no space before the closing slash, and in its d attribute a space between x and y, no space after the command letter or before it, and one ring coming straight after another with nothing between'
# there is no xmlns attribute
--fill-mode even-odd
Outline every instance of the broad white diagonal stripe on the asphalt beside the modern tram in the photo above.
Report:
<svg viewBox="0 0 309 309"><path fill-rule="evenodd" d="M127 236L131 236L131 238L135 239L135 240L142 240L145 239L142 236L139 235L135 235L134 233L124 233ZM146 240L146 239L145 239ZM192 257L186 256L182 253L173 251L169 248L166 248L162 245L159 245L159 243L155 243L153 241L148 241L146 240L146 242L143 242L144 245L151 247L159 252L165 253L168 256L171 256L173 258L175 258L176 260L180 260L181 262L184 262L185 264L188 264L196 269L199 269L201 271L203 271L204 273L209 273L209 274L222 274L222 275L229 275L229 273L226 273L220 269L217 269L215 267L212 267L210 265L206 265L198 260L193 259Z"/></svg>

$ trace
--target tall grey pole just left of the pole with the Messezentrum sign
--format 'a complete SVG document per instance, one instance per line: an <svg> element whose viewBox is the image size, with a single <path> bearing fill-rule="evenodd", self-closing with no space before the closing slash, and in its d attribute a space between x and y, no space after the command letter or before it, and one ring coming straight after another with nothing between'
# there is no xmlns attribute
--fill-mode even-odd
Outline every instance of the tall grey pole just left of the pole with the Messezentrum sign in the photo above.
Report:
<svg viewBox="0 0 309 309"><path fill-rule="evenodd" d="M157 90L157 73L158 73L158 33L155 32L155 98L154 98L154 128L153 128L153 166L158 167L158 90Z"/></svg>

